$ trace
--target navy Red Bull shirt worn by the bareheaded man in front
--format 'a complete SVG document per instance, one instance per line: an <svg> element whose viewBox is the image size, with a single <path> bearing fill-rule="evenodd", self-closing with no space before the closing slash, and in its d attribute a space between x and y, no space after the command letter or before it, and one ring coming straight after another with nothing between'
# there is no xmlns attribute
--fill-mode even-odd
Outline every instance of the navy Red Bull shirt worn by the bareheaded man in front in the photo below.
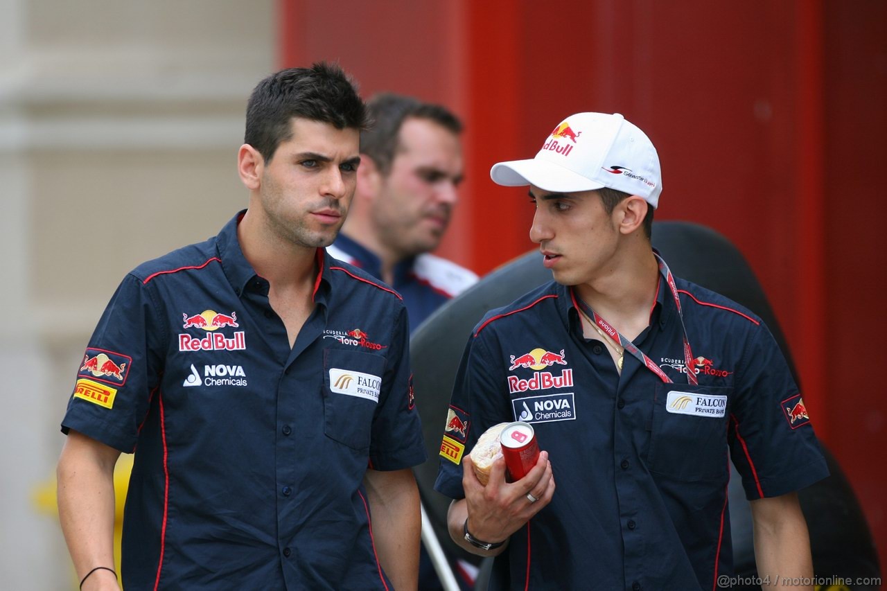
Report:
<svg viewBox="0 0 887 591"><path fill-rule="evenodd" d="M137 267L92 335L62 430L135 452L132 589L384 589L362 480L425 460L400 296L324 249L292 349L218 236Z"/></svg>

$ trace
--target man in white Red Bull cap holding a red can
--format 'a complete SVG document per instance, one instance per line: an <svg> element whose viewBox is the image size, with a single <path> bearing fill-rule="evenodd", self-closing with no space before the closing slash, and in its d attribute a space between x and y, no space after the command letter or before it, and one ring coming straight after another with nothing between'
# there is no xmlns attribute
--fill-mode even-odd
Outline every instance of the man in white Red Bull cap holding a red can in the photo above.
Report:
<svg viewBox="0 0 887 591"><path fill-rule="evenodd" d="M574 114L491 177L530 185L530 239L553 273L475 327L443 435L436 489L454 499L453 540L497 556L491 588L729 586L730 459L761 577L812 577L795 492L828 469L801 393L761 319L651 248L648 137L620 114ZM544 451L516 482L495 461L484 486L463 453L512 421Z"/></svg>

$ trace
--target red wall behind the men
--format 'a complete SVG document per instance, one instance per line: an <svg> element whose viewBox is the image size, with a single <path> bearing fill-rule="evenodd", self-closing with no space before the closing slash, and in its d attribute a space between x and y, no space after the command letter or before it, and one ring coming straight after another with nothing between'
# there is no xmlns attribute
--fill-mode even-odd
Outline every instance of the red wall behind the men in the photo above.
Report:
<svg viewBox="0 0 887 591"><path fill-rule="evenodd" d="M657 219L709 225L749 259L887 563L887 401L864 353L887 330L887 3L279 3L282 67L338 59L365 96L462 116L466 183L439 254L476 272L534 247L525 190L493 185L494 162L580 111L645 130Z"/></svg>

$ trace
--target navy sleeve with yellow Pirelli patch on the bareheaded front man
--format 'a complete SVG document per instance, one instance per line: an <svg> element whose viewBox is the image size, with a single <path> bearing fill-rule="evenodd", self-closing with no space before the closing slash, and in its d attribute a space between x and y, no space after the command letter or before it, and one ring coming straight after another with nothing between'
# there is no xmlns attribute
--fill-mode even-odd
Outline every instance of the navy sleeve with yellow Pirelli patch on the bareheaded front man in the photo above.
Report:
<svg viewBox="0 0 887 591"><path fill-rule="evenodd" d="M61 430L70 429L124 453L136 446L162 372L163 331L147 288L122 280L80 360Z"/></svg>

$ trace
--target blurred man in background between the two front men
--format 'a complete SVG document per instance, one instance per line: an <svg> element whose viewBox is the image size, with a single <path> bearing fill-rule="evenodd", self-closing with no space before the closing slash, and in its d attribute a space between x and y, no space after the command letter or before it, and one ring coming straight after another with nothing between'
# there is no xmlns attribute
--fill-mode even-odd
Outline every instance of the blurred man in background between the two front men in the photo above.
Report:
<svg viewBox="0 0 887 591"><path fill-rule="evenodd" d="M443 106L380 94L360 137L357 193L329 253L404 296L414 329L477 280L430 254L450 225L462 181L462 124Z"/></svg>

